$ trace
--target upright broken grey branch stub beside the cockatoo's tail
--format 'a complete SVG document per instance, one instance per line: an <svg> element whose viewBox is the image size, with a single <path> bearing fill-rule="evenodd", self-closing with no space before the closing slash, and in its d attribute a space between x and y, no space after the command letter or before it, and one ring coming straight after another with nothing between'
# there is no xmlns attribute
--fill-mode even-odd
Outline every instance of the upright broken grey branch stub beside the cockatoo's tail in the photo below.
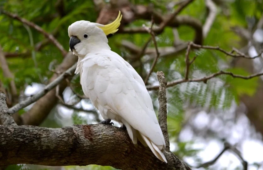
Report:
<svg viewBox="0 0 263 170"><path fill-rule="evenodd" d="M160 85L159 93L158 93L159 124L160 124L160 127L164 135L166 150L170 150L169 135L168 135L168 130L167 130L167 101L166 101L166 88L165 88L167 81L162 71L157 71L157 79Z"/></svg>

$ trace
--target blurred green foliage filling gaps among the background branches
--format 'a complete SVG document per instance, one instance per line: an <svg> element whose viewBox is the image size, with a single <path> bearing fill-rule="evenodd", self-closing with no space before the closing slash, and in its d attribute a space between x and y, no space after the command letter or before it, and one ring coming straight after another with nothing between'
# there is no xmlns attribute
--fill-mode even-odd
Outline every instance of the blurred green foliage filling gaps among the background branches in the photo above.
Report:
<svg viewBox="0 0 263 170"><path fill-rule="evenodd" d="M0 0L0 8L6 9L10 12L18 14L19 16L30 20L41 26L45 31L53 34L58 41L63 45L64 49L69 49L69 37L67 33L68 25L77 20L89 20L95 22L98 13L94 8L92 1L87 0L67 0L64 3L64 15L58 15L55 0ZM107 1L108 2L108 1ZM166 13L166 4L172 0L131 0L133 4L148 5L154 4L154 8L162 13ZM204 39L204 45L220 46L221 48L230 51L232 47L241 48L240 37L231 31L231 26L245 26L247 27L247 18L254 17L259 20L262 14L262 1L254 0L235 0L227 3L230 15L222 14L222 9L218 8L218 16L216 17L208 36ZM249 8L248 8L249 6ZM176 7L174 8L176 9ZM180 15L189 15L196 18L204 24L207 17L207 10L203 0L195 0ZM149 21L135 20L127 25L128 27L139 27L143 24L149 25ZM184 41L192 41L195 35L193 28L187 25L181 25L177 28L180 38ZM26 30L25 25L19 21L0 14L0 44L4 52L8 53L26 53L34 51L31 44L35 46L42 42L44 37L36 30L30 28L33 39L30 40L29 31ZM109 38L109 45L111 49L124 58L129 58L130 53L124 48L120 48L120 42L127 40L135 45L142 47L147 41L148 34L118 34ZM172 28L165 28L164 32L156 36L158 47L167 47L173 45L173 30ZM154 48L153 43L149 44L150 48ZM212 50L192 50L190 59L198 55L197 59L191 65L190 78L199 78L205 75L222 70L222 63L227 65L232 60L231 57L226 56L218 51ZM185 51L176 55L160 58L154 72L163 71L167 81L174 81L184 77L185 71ZM8 66L14 73L15 83L18 90L24 89L25 86L32 82L45 83L45 80L50 78L53 74L49 68L55 67L56 64L63 60L59 49L52 43L47 43L39 51L36 51L35 61L33 56L27 55L25 57L8 58ZM143 57L144 63L152 63L150 60L147 63L148 56ZM37 64L36 64L37 63ZM138 70L138 68L135 68ZM223 69L232 71L240 75L248 75L249 73L242 68L227 68ZM146 72L146 71L144 71ZM41 76L39 76L41 75ZM41 78L42 77L42 78ZM156 78L153 76L153 79ZM3 76L3 71L0 71L0 80L5 88L8 88L10 79ZM75 90L82 94L81 86L79 85L79 77L72 80ZM184 106L195 105L202 108L213 109L229 109L232 100L239 102L241 94L253 95L257 87L257 79L242 80L235 79L230 76L219 76L218 78L209 80L206 84L203 82L191 82L179 84L176 87L167 90L168 96L168 129L172 141L176 138L182 128L184 122ZM152 95L153 101L156 100L157 95ZM21 111L21 114L23 111ZM81 120L77 114L73 114L75 124L82 124L85 121ZM185 143L179 144L180 147L175 151L176 154L182 156L189 156L195 153L194 150L186 150ZM19 169L20 166L10 166L8 168ZM87 167L68 166L65 169L113 169L111 167L100 167L97 165L90 165Z"/></svg>

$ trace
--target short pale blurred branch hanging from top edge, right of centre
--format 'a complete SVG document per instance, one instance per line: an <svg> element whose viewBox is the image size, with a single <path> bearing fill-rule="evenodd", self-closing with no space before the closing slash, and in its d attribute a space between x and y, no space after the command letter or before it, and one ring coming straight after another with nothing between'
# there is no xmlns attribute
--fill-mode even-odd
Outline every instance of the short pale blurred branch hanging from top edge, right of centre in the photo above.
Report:
<svg viewBox="0 0 263 170"><path fill-rule="evenodd" d="M216 5L212 0L205 0L205 5L209 9L209 14L203 26L203 37L206 37L211 29L216 17Z"/></svg>

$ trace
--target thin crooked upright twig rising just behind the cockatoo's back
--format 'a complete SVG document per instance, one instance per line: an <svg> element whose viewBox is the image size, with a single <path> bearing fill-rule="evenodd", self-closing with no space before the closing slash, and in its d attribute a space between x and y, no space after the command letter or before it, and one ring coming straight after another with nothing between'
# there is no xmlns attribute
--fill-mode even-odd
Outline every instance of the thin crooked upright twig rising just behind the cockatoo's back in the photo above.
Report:
<svg viewBox="0 0 263 170"><path fill-rule="evenodd" d="M153 18L152 18L151 27L150 27L149 29L148 29L148 28L145 28L145 29L148 30L148 32L149 32L149 34L151 35L152 40L153 40L153 42L154 42L156 57L154 58L153 64L152 64L152 66L151 66L151 68L150 68L150 71L149 71L149 73L147 74L147 76L146 76L146 78L145 78L145 80L144 80L144 84L147 83L147 81L148 81L151 73L152 73L153 70L154 70L154 67L155 67L155 65L156 65L156 63L157 63L157 60L158 60L158 58L159 58L159 56L160 56L160 53L159 53L159 50L158 50L158 46L157 46L157 42L156 42L156 39L155 39L155 35L154 35L154 32L153 32L153 25L154 25L154 20L153 20Z"/></svg>

